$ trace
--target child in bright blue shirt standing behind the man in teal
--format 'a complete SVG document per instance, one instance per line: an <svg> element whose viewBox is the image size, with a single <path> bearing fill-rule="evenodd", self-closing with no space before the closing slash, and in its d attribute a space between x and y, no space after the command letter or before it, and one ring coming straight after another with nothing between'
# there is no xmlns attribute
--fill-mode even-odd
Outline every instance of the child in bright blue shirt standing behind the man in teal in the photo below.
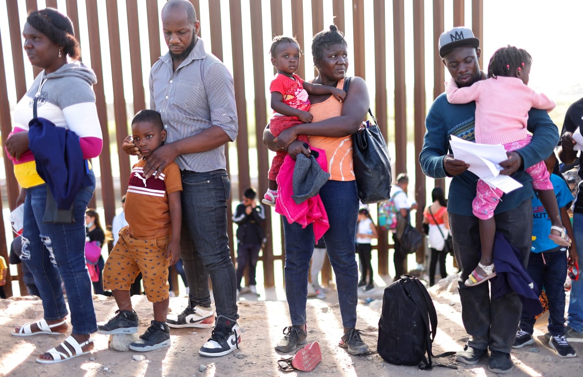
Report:
<svg viewBox="0 0 583 377"><path fill-rule="evenodd" d="M554 153L545 160L547 170L552 173L557 158ZM563 226L571 239L573 238L573 228L567 214L567 207L573 202L573 195L567 183L559 175L551 174L550 181L553 184L557 203L561 213ZM567 252L569 258L577 259L577 248L575 242L571 246L559 246L547 237L551 227L550 218L547 216L545 207L537 196L532 198L532 251L528 259L526 270L538 289L540 295L543 287L549 299L549 346L556 351L559 357L575 357L577 354L564 336L565 325L565 290L563 283L567 277ZM535 340L532 337L535 318L522 311L519 329L516 333L513 348L521 348L532 344Z"/></svg>

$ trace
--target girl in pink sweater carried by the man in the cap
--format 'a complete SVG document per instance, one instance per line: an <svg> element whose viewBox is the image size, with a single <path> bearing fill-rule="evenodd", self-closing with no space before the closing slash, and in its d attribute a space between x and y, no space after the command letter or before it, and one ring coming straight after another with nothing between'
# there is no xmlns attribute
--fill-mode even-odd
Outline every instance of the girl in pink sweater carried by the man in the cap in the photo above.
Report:
<svg viewBox="0 0 583 377"><path fill-rule="evenodd" d="M490 59L488 79L472 86L458 88L453 80L446 82L447 100L452 104L476 101L476 143L503 144L507 152L520 149L531 141L526 130L528 111L540 108L551 111L555 107L545 94L536 93L528 87L532 57L521 48L499 48ZM556 244L570 246L561 222L559 207L543 161L526 169L532 177L532 185L549 214L552 224L551 238ZM480 242L482 258L472 271L466 286L475 286L496 276L492 249L496 221L494 210L503 191L490 186L482 179L477 182L476 198L472 202L473 213L480 219Z"/></svg>

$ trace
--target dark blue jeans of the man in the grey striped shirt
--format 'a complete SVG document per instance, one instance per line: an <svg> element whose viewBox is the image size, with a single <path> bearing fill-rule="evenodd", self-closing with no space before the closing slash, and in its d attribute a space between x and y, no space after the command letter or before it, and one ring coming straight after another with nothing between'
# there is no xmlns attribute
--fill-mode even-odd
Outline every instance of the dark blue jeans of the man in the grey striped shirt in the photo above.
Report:
<svg viewBox="0 0 583 377"><path fill-rule="evenodd" d="M210 306L210 276L216 315L236 320L237 277L227 235L230 195L231 181L226 170L182 171L182 224L188 234L180 243L190 287L189 305Z"/></svg>

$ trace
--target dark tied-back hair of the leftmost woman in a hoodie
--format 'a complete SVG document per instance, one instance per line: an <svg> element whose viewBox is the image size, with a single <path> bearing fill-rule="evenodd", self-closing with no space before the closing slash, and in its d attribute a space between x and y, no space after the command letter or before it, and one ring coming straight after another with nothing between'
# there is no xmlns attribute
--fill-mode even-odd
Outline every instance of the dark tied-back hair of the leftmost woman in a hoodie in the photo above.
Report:
<svg viewBox="0 0 583 377"><path fill-rule="evenodd" d="M73 24L69 17L56 9L45 8L31 10L26 17L26 22L34 29L43 33L54 44L63 47L63 52L71 59L81 57L79 42L75 39Z"/></svg>

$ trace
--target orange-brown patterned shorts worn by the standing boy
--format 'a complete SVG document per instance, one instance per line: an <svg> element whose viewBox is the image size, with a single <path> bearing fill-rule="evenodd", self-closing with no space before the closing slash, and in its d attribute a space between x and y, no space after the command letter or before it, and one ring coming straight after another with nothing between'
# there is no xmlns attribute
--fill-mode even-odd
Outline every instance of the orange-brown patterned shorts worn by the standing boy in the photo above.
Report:
<svg viewBox="0 0 583 377"><path fill-rule="evenodd" d="M166 248L170 237L138 239L129 234L129 227L120 231L120 239L103 268L103 287L106 290L129 291L138 273L150 302L168 298L168 260Z"/></svg>

